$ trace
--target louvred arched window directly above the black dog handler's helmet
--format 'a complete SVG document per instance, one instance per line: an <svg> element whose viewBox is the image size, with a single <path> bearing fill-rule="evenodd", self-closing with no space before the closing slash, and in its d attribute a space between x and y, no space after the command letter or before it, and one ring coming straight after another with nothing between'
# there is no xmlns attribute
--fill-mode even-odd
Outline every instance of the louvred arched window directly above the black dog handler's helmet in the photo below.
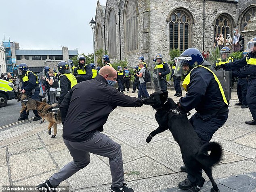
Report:
<svg viewBox="0 0 256 192"><path fill-rule="evenodd" d="M191 46L191 17L182 10L174 11L170 16L170 50L186 50Z"/></svg>

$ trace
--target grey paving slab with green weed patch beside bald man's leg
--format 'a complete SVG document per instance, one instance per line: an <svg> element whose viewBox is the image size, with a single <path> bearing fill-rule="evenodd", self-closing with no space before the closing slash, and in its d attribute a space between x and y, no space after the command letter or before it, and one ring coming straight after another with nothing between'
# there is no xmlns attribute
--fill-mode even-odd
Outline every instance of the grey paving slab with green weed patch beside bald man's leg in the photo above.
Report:
<svg viewBox="0 0 256 192"><path fill-rule="evenodd" d="M173 173L173 171L149 157L142 157L124 163L124 178L127 181L166 175L169 173Z"/></svg>

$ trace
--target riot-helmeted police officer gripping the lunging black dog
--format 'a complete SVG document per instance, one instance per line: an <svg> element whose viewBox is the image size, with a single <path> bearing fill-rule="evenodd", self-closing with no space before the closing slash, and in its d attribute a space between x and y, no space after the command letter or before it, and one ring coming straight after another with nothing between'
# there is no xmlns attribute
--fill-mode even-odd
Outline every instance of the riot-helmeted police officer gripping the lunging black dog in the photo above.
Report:
<svg viewBox="0 0 256 192"><path fill-rule="evenodd" d="M196 48L185 50L177 59L174 75L186 75L183 88L187 92L181 97L177 111L188 113L195 109L196 113L189 119L202 144L209 142L218 128L228 118L228 102L218 77L209 69L210 63L204 60ZM187 171L185 166L180 167ZM181 189L199 191L204 180L197 180L197 175L187 171L187 179L178 184ZM202 169L198 171L202 174Z"/></svg>

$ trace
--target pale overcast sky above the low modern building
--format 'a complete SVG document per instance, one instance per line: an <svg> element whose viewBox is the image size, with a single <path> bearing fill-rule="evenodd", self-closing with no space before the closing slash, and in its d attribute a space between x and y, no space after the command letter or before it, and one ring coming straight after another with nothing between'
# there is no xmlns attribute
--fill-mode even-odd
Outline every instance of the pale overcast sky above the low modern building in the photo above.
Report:
<svg viewBox="0 0 256 192"><path fill-rule="evenodd" d="M107 0L99 0L106 5ZM19 42L20 49L69 50L93 53L92 29L97 0L2 0L1 42Z"/></svg>

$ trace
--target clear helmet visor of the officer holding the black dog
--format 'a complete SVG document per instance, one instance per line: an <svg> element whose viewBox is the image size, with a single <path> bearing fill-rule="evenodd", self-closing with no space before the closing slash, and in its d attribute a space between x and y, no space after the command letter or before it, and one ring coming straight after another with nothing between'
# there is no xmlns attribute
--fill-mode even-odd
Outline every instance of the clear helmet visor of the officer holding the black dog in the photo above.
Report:
<svg viewBox="0 0 256 192"><path fill-rule="evenodd" d="M178 57L176 67L174 69L174 75L182 76L189 73L189 61L192 60L191 57Z"/></svg>

